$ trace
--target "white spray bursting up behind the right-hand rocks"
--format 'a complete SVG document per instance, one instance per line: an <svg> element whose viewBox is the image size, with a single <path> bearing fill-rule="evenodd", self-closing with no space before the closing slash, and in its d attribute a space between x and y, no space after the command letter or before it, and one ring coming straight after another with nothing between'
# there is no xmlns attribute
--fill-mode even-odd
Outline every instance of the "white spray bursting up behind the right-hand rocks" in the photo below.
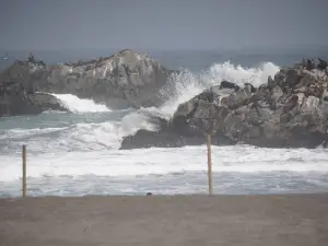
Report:
<svg viewBox="0 0 328 246"><path fill-rule="evenodd" d="M246 82L259 86L267 83L268 77L273 77L279 69L280 67L272 62L263 62L258 68L244 68L230 61L214 63L199 74L183 69L180 73L173 74L167 85L162 90L162 94L167 99L162 105L161 110L173 115L180 103L192 98L211 85L220 84L223 80L234 82L239 86Z"/></svg>

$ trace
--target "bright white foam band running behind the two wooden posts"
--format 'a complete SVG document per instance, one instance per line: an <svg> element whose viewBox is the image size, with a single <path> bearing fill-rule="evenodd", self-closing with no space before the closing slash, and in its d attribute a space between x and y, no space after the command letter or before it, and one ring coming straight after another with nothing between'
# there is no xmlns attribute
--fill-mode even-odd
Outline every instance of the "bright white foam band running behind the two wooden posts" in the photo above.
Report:
<svg viewBox="0 0 328 246"><path fill-rule="evenodd" d="M324 172L328 151L306 149L256 149L248 145L213 147L214 173ZM21 159L4 157L0 181L21 177ZM28 156L28 177L136 176L206 172L206 147L46 153Z"/></svg>

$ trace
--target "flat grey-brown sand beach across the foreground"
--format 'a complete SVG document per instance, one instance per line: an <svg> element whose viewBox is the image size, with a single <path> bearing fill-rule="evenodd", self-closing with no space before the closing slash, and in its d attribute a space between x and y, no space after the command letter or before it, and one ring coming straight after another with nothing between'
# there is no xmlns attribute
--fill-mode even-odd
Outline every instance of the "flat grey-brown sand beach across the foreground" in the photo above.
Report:
<svg viewBox="0 0 328 246"><path fill-rule="evenodd" d="M328 245L328 194L0 199L1 246Z"/></svg>

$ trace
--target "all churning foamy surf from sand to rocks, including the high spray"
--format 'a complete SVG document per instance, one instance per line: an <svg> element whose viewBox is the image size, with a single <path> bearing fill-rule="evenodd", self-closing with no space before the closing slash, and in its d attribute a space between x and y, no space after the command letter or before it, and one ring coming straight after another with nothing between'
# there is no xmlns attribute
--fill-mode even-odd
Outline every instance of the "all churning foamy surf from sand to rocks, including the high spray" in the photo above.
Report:
<svg viewBox="0 0 328 246"><path fill-rule="evenodd" d="M27 145L28 196L207 192L206 147L118 150L122 137L155 130L140 114L171 117L204 87L229 80L259 85L279 67L214 63L171 78L160 108L112 110L91 99L56 95L71 113L0 119L0 197L21 195L21 149ZM172 86L169 86L172 87ZM328 150L213 147L216 194L319 192L328 188Z"/></svg>

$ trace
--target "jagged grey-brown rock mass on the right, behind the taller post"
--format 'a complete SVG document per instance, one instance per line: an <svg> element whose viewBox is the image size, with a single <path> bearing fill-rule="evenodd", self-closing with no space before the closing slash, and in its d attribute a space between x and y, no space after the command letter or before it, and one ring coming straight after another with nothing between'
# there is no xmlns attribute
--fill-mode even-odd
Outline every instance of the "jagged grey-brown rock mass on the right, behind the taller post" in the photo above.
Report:
<svg viewBox="0 0 328 246"><path fill-rule="evenodd" d="M323 62L320 62L323 63ZM204 143L315 148L328 143L327 67L282 68L255 89L226 81L180 104L159 132L139 131L121 149Z"/></svg>

